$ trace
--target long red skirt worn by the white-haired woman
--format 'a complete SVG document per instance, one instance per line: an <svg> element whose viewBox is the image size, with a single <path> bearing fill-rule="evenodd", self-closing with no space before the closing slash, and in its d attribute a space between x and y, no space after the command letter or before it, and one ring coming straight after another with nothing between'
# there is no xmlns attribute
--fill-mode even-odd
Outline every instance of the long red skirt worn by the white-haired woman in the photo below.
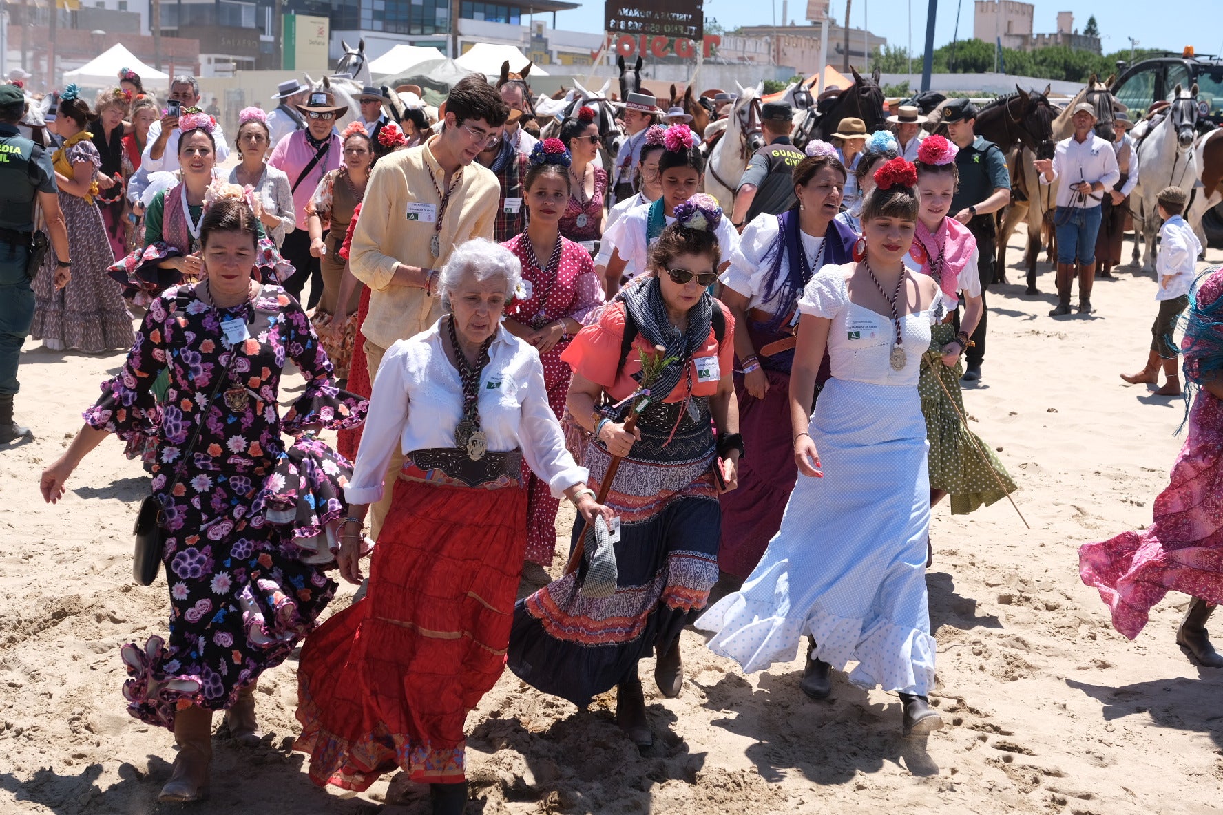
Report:
<svg viewBox="0 0 1223 815"><path fill-rule="evenodd" d="M319 784L362 791L396 767L464 781L464 721L505 668L527 492L395 481L369 593L306 639L295 750Z"/></svg>

